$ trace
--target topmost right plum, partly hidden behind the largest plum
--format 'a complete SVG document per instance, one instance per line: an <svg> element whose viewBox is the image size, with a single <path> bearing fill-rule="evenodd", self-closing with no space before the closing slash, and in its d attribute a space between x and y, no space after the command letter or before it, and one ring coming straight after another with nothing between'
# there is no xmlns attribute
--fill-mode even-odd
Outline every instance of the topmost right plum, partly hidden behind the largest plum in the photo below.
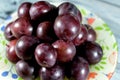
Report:
<svg viewBox="0 0 120 80"><path fill-rule="evenodd" d="M69 2L64 2L60 4L58 8L59 8L58 15L73 14L77 16L80 23L82 22L82 15L74 4L69 3Z"/></svg>

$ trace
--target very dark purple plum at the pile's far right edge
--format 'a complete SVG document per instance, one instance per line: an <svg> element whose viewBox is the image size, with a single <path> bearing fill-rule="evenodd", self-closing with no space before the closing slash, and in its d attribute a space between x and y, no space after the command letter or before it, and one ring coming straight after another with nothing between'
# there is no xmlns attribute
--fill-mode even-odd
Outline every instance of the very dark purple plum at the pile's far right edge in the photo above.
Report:
<svg viewBox="0 0 120 80"><path fill-rule="evenodd" d="M85 42L77 47L78 56L84 57L89 64L97 64L100 62L103 56L103 50L101 46L96 42Z"/></svg>

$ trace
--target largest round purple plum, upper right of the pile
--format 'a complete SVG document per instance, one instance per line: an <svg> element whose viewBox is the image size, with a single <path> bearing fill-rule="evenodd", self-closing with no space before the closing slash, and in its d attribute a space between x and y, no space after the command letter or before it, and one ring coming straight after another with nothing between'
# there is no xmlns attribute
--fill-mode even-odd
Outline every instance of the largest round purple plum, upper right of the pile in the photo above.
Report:
<svg viewBox="0 0 120 80"><path fill-rule="evenodd" d="M77 36L79 29L79 20L71 14L58 16L54 23L54 31L57 37L66 41L72 41Z"/></svg>

